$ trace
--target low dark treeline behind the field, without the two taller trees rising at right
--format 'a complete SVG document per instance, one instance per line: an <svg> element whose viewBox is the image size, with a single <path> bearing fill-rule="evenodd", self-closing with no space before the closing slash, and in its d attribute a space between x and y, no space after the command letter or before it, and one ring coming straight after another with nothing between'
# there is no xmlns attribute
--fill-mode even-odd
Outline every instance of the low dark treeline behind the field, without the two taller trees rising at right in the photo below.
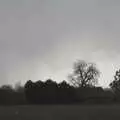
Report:
<svg viewBox="0 0 120 120"><path fill-rule="evenodd" d="M24 86L13 89L9 85L0 88L1 105L23 104L84 104L119 102L111 89L101 87L74 87L66 81L56 83L51 79L32 82L28 80Z"/></svg>

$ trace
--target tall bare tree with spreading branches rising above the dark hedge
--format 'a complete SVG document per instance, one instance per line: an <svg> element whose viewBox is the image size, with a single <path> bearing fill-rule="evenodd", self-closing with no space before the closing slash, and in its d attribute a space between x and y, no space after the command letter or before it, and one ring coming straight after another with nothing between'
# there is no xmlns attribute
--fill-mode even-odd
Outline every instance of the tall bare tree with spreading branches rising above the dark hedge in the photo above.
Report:
<svg viewBox="0 0 120 120"><path fill-rule="evenodd" d="M74 63L73 73L68 76L69 82L75 87L95 86L99 73L95 64L78 60Z"/></svg>

